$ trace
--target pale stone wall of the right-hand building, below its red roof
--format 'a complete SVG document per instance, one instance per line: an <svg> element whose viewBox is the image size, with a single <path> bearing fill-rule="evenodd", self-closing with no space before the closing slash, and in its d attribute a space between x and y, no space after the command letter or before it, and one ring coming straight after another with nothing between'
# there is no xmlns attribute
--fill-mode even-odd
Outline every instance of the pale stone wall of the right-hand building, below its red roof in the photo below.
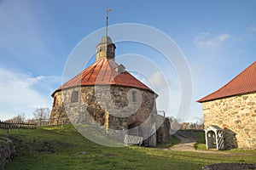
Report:
<svg viewBox="0 0 256 170"><path fill-rule="evenodd" d="M202 103L204 124L224 128L225 149L256 150L256 94Z"/></svg>

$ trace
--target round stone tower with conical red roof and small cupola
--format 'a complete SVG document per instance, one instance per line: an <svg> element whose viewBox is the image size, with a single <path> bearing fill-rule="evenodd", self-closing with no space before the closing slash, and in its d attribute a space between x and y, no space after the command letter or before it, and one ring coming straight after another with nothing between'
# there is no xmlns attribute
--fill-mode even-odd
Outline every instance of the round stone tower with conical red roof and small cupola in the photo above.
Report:
<svg viewBox="0 0 256 170"><path fill-rule="evenodd" d="M97 124L119 138L124 134L142 136L150 146L167 141L170 126L157 114L158 95L115 62L115 48L110 37L102 37L96 47L96 62L52 94L49 122ZM160 133L155 133L156 129Z"/></svg>

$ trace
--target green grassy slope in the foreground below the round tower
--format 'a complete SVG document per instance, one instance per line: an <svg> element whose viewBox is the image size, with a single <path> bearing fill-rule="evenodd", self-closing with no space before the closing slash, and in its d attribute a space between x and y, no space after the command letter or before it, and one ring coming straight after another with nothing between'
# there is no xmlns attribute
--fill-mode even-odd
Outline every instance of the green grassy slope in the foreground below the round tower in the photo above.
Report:
<svg viewBox="0 0 256 170"><path fill-rule="evenodd" d="M73 127L13 130L19 156L7 170L19 169L201 169L218 162L256 163L255 155L202 154L137 146L111 148L90 142Z"/></svg>

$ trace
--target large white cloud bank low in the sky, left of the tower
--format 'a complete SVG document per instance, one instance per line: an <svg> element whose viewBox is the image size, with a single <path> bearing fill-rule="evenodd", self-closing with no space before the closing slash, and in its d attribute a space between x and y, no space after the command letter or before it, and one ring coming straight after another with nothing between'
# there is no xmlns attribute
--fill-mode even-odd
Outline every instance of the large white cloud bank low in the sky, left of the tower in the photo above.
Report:
<svg viewBox="0 0 256 170"><path fill-rule="evenodd" d="M52 91L49 87L55 82L60 82L60 78L32 77L29 73L0 67L0 119L11 118L21 112L30 117L37 107L50 107Z"/></svg>

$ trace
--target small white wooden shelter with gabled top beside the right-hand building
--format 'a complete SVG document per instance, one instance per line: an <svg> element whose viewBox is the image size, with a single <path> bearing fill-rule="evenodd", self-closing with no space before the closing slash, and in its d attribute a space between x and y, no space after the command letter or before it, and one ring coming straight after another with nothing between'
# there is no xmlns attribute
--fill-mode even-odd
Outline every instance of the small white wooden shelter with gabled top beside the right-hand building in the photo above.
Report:
<svg viewBox="0 0 256 170"><path fill-rule="evenodd" d="M206 143L208 149L224 150L223 129L210 125L205 129Z"/></svg>

